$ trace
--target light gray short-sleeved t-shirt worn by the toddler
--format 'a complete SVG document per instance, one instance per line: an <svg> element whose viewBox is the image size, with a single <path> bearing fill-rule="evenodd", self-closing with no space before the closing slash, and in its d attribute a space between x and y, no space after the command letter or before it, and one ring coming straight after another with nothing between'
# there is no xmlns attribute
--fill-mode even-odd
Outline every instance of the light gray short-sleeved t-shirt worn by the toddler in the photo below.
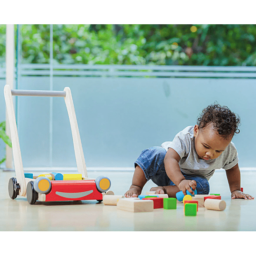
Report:
<svg viewBox="0 0 256 256"><path fill-rule="evenodd" d="M173 141L163 142L161 145L166 151L174 149L181 160L179 162L181 172L197 174L207 178L212 177L216 169L228 170L238 163L238 154L233 142L226 147L221 155L212 160L199 159L194 147L194 126L188 126L177 133Z"/></svg>

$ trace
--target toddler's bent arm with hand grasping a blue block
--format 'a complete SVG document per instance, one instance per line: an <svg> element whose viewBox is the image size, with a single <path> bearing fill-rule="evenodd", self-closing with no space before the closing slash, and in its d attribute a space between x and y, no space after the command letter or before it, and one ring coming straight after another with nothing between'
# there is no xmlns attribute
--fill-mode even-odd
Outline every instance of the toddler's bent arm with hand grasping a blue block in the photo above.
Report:
<svg viewBox="0 0 256 256"><path fill-rule="evenodd" d="M191 188L195 190L196 181L186 180L182 175L179 166L180 159L181 157L179 154L172 148L169 148L164 158L165 171L170 180L177 185L179 190L183 191L183 194L186 194L186 190L191 194L194 194L194 191L192 191Z"/></svg>

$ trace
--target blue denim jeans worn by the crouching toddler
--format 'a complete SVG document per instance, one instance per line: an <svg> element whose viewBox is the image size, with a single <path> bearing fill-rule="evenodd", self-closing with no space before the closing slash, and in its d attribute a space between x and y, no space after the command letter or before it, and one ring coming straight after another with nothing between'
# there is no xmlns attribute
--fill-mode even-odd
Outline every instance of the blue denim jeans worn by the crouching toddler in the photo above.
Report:
<svg viewBox="0 0 256 256"><path fill-rule="evenodd" d="M158 186L175 185L167 176L163 159L166 150L162 147L151 147L143 150L135 161L135 167L138 165L144 172L147 181L152 180ZM206 177L201 175L188 175L181 172L186 180L196 181L197 194L209 194L210 186Z"/></svg>

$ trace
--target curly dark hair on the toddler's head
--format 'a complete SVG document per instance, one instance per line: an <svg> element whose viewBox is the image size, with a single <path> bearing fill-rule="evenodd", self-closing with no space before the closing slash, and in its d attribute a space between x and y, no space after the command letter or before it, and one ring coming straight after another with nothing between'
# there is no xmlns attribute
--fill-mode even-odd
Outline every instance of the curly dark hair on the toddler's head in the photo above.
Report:
<svg viewBox="0 0 256 256"><path fill-rule="evenodd" d="M238 125L240 124L240 117L234 114L227 106L219 104L212 104L203 109L202 113L197 119L197 124L200 128L212 124L219 135L224 138L239 133Z"/></svg>

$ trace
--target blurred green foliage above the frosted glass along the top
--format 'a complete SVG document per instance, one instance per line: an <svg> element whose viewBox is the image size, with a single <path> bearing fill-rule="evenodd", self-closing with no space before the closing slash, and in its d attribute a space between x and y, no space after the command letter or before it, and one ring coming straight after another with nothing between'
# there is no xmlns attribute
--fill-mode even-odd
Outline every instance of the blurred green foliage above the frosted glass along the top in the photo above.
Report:
<svg viewBox="0 0 256 256"><path fill-rule="evenodd" d="M22 63L49 63L50 25L20 25L20 31ZM255 66L256 25L56 24L53 58L63 64Z"/></svg>

